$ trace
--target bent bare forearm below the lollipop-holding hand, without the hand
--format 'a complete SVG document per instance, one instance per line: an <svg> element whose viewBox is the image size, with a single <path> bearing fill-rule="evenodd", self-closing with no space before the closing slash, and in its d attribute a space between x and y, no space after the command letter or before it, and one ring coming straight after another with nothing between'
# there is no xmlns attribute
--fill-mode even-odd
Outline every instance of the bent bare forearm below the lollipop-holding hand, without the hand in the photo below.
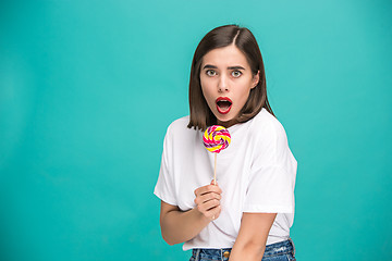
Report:
<svg viewBox="0 0 392 261"><path fill-rule="evenodd" d="M169 245L184 243L199 234L209 222L197 209L172 210L161 219L162 237Z"/></svg>

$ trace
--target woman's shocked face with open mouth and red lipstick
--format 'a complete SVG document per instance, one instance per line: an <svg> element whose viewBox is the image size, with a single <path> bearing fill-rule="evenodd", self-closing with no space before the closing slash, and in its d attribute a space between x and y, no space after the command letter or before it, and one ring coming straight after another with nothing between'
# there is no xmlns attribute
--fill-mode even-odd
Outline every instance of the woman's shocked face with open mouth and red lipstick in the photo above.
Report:
<svg viewBox="0 0 392 261"><path fill-rule="evenodd" d="M219 125L235 124L234 119L258 80L259 74L252 74L246 57L234 45L213 49L203 58L201 90Z"/></svg>

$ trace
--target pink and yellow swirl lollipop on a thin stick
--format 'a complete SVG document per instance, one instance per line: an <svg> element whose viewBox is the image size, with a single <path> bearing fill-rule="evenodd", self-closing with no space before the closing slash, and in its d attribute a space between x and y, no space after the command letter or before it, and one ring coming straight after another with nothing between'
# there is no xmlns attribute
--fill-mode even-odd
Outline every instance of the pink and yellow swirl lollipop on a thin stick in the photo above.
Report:
<svg viewBox="0 0 392 261"><path fill-rule="evenodd" d="M217 185L217 154L221 150L229 147L231 140L230 133L226 128L212 125L208 127L204 134L203 142L206 149L215 153L215 166L213 166L213 184Z"/></svg>

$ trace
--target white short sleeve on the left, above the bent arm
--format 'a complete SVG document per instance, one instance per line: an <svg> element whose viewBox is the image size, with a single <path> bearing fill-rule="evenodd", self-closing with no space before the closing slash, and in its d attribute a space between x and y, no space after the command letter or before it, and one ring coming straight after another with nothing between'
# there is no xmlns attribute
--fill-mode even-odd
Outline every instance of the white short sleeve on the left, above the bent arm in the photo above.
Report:
<svg viewBox="0 0 392 261"><path fill-rule="evenodd" d="M174 192L175 191L174 177L169 161L171 152L172 152L172 148L171 148L170 127L169 127L163 141L162 160L161 160L158 182L154 189L154 194L162 201L172 206L177 206L177 201Z"/></svg>

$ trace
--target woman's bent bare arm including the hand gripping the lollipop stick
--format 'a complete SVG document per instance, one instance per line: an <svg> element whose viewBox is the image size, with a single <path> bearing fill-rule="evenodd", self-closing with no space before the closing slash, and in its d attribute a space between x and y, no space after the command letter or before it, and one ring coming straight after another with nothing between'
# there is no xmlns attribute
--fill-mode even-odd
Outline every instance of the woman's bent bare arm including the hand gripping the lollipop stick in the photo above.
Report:
<svg viewBox="0 0 392 261"><path fill-rule="evenodd" d="M163 239L169 245L180 244L194 238L220 214L220 194L215 185L207 185L195 190L196 208L181 211L177 206L161 201L160 225Z"/></svg>

